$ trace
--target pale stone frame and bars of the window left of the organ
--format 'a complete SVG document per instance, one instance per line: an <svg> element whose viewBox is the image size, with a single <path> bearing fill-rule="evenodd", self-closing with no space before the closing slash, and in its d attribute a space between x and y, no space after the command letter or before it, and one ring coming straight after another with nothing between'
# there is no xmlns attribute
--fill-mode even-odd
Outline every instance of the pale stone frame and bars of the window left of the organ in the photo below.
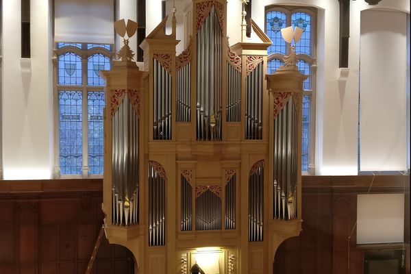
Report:
<svg viewBox="0 0 411 274"><path fill-rule="evenodd" d="M53 178L102 178L103 174L89 174L88 166L88 92L104 92L105 86L88 86L88 58L97 53L105 55L112 60L113 51L103 47L92 47L87 49L87 43L77 43L82 45L82 49L75 46L66 46L58 49L58 42L54 43L53 54L53 112L54 112L54 166ZM91 43L90 43L91 44ZM110 45L114 50L114 45ZM82 60L82 85L59 85L58 84L58 58L64 53L74 53ZM111 65L110 65L111 66ZM59 92L60 90L81 91L82 92L82 174L61 175L60 173L60 125L59 125Z"/></svg>

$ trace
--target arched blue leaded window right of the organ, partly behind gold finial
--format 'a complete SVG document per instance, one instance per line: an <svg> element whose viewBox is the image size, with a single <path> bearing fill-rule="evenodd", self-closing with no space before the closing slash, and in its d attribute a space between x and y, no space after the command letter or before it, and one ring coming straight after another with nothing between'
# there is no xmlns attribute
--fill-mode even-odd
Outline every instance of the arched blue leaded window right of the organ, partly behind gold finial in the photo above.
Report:
<svg viewBox="0 0 411 274"><path fill-rule="evenodd" d="M304 32L295 46L299 71L309 77L303 82L303 134L302 134L302 171L312 173L314 169L315 133L315 73L316 73L316 36L314 8L271 5L266 7L265 32L273 41L268 49L267 73L273 74L284 65L284 55L290 51L281 36L284 27L301 27Z"/></svg>

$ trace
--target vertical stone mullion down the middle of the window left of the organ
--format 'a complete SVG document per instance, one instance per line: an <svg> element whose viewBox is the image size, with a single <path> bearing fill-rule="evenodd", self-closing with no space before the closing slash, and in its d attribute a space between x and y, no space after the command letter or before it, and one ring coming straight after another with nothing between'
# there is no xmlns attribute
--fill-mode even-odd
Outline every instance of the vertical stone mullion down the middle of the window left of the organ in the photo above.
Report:
<svg viewBox="0 0 411 274"><path fill-rule="evenodd" d="M87 98L87 58L82 59L82 84L83 84L83 105L82 105L82 175L88 177L88 98Z"/></svg>

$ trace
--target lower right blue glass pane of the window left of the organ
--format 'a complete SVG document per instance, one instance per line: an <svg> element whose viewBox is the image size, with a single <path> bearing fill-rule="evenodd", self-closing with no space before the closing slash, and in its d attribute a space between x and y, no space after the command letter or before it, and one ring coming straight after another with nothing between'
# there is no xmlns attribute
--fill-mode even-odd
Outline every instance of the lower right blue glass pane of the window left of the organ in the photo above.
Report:
<svg viewBox="0 0 411 274"><path fill-rule="evenodd" d="M104 92L87 92L88 167L90 174L103 174Z"/></svg>

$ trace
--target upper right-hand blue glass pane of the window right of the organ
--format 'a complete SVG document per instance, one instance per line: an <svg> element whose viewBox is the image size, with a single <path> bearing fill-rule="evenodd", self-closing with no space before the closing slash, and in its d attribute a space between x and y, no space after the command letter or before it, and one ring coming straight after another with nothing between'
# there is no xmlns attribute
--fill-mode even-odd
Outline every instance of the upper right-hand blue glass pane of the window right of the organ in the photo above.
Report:
<svg viewBox="0 0 411 274"><path fill-rule="evenodd" d="M306 12L295 12L291 15L292 27L304 29L301 40L295 46L295 53L306 53L311 55L311 16Z"/></svg>

